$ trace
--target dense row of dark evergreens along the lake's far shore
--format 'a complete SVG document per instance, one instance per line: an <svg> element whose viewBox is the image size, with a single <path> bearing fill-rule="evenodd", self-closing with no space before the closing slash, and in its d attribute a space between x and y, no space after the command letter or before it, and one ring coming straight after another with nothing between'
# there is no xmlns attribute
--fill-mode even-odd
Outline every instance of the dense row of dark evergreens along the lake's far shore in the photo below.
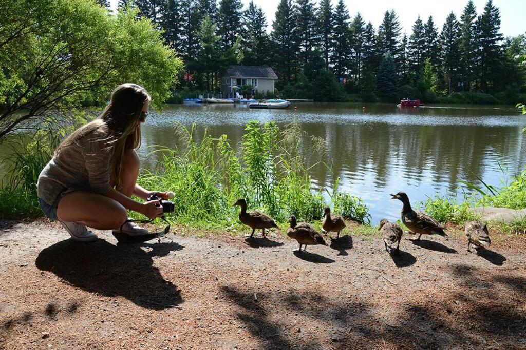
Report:
<svg viewBox="0 0 526 350"><path fill-rule="evenodd" d="M124 10L128 5L164 29L196 89L214 91L218 72L234 63L270 65L288 98L511 103L525 89L518 57L526 39L503 38L492 0L479 15L470 0L441 30L432 16L419 16L409 34L395 10L375 29L360 13L351 17L342 0L281 0L270 34L252 1L245 10L240 0L119 1Z"/></svg>

